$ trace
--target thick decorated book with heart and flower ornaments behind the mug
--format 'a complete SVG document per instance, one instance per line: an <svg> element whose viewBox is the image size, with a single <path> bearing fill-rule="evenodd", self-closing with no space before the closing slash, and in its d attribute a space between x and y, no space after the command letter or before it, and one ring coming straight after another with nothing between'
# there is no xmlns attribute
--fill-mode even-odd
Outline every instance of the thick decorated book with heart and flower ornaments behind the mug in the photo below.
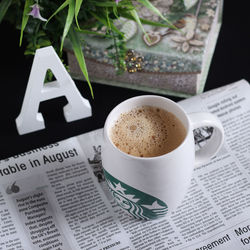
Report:
<svg viewBox="0 0 250 250"><path fill-rule="evenodd" d="M83 35L90 80L180 97L203 92L221 27L223 0L151 2L178 29L144 25L144 33L136 22L121 18L117 26L125 34L127 48L131 49L126 60L127 71L122 74L117 74L107 50L113 40ZM137 8L141 18L162 22L145 7ZM72 77L84 79L67 44L66 51Z"/></svg>

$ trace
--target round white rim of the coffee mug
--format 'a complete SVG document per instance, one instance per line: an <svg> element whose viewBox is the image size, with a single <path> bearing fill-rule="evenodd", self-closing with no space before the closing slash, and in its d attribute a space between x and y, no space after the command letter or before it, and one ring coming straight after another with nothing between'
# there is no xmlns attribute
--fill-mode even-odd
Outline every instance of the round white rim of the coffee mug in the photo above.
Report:
<svg viewBox="0 0 250 250"><path fill-rule="evenodd" d="M109 131L108 131L108 123L111 123L112 120L111 119L111 115L117 110L119 109L121 106L125 105L126 103L129 103L129 102L132 102L136 99L141 99L141 98L156 98L156 99L161 99L163 101L167 101L168 103L171 103L171 105L174 105L175 107L177 107L181 113L183 114L183 116L185 117L186 119L186 122L187 122L187 128L186 128L186 135L185 135L185 138L184 140L179 144L178 147L176 147L174 150L168 152L168 153L165 153L165 154L162 154L162 155L158 155L158 156L151 156L151 157L139 157L139 156L135 156L135 155L130 155L130 154L127 154L125 152L123 152L122 150L120 150L119 148L117 148L113 141L111 140L110 136L109 136ZM148 105L148 106L153 106L153 105ZM153 106L153 107L159 107L159 106ZM136 108L133 107L133 108ZM159 107L161 109L165 109L165 108L162 108L162 107ZM166 109L165 109L166 110ZM166 110L168 111L168 110ZM168 112L171 112L171 111L168 111ZM122 112L120 112L121 114ZM172 113L172 112L171 112ZM174 114L176 116L176 114ZM178 119L180 120L180 118L178 117ZM181 123L183 124L184 122L181 120ZM130 158L130 159L136 159L136 160L141 160L141 161L148 161L148 160L153 160L153 159L160 159L160 158L165 158L165 157L168 157L172 154L174 154L177 150L180 149L180 147L182 147L182 145L187 141L187 138L188 138L188 135L190 133L190 128L191 128L191 124L190 124L190 120L188 118L188 115L186 113L186 111L176 102L172 101L171 99L167 98L167 97L163 97L163 96L158 96L158 95L139 95L139 96L134 96L134 97L131 97L131 98L128 98L124 101L122 101L121 103L117 104L108 114L106 120L105 120L105 124L104 124L104 128L103 128L103 131L104 131L104 138L106 140L108 140L109 144L112 146L112 148L114 150L117 150L118 152L120 152L124 157L127 157L127 158Z"/></svg>

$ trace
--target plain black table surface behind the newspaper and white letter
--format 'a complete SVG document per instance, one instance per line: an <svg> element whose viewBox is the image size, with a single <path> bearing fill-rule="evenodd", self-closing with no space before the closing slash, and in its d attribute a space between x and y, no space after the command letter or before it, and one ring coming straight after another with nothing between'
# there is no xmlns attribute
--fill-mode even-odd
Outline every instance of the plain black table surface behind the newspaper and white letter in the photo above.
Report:
<svg viewBox="0 0 250 250"><path fill-rule="evenodd" d="M247 1L224 1L222 27L206 81L205 91L240 79L250 82L250 36ZM19 135L15 119L20 113L32 58L23 55L18 46L19 33L6 23L0 24L1 39L1 91L0 91L0 159L37 147L102 128L111 109L121 101L146 92L92 83L95 98L91 99L86 82L76 85L92 106L90 118L67 123L62 107L64 97L41 103L46 128L26 135ZM181 98L167 96L174 101Z"/></svg>

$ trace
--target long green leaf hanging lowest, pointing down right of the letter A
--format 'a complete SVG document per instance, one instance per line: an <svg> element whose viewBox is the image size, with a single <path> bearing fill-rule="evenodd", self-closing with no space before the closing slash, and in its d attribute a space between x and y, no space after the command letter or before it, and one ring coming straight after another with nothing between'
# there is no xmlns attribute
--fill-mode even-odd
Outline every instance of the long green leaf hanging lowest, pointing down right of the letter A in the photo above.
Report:
<svg viewBox="0 0 250 250"><path fill-rule="evenodd" d="M88 70L87 70L84 55L82 52L81 42L80 42L80 39L79 39L76 31L73 29L73 27L71 27L69 30L69 39L72 43L73 51L74 51L74 54L75 54L76 59L78 61L78 64L80 66L80 69L81 69L81 71L82 71L82 73L83 73L83 75L84 75L84 77L89 85L91 96L92 96L92 98L94 98L93 89L92 89L91 83L89 81Z"/></svg>

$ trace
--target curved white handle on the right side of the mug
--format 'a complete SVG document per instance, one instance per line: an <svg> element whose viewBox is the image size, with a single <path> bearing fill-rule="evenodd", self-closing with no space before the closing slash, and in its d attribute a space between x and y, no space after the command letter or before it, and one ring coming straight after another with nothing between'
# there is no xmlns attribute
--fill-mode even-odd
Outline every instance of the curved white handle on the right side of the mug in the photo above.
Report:
<svg viewBox="0 0 250 250"><path fill-rule="evenodd" d="M200 127L213 127L213 133L208 142L195 152L195 165L199 166L213 157L221 148L224 141L224 129L220 120L211 113L190 113L192 129Z"/></svg>

